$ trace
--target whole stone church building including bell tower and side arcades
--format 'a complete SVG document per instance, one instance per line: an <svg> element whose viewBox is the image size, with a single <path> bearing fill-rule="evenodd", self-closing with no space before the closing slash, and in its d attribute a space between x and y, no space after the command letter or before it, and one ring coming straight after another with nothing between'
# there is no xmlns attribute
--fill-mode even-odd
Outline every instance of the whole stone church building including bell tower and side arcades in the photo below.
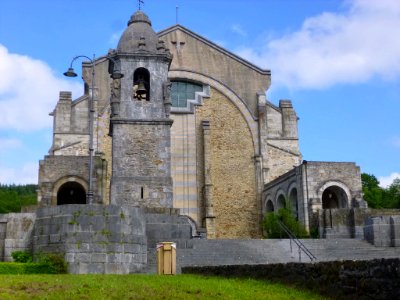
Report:
<svg viewBox="0 0 400 300"><path fill-rule="evenodd" d="M179 209L192 235L259 238L288 203L307 228L320 209L364 206L354 163L302 160L291 101L266 97L270 70L181 25L156 33L136 12L94 72L83 62L84 94L60 92L51 113L40 206L88 204L90 128L93 204Z"/></svg>

